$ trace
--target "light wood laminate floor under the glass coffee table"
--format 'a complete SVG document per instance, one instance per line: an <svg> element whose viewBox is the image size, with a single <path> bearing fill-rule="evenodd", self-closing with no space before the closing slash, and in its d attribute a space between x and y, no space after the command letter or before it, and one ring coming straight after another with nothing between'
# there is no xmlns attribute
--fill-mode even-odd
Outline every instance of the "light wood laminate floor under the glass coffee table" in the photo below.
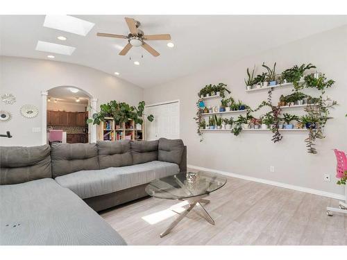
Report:
<svg viewBox="0 0 347 260"><path fill-rule="evenodd" d="M195 207L160 238L182 210L177 200L145 198L101 212L128 245L347 245L347 216L329 217L338 200L227 177L205 206L215 225ZM176 206L175 206L176 205ZM187 206L184 206L187 207Z"/></svg>

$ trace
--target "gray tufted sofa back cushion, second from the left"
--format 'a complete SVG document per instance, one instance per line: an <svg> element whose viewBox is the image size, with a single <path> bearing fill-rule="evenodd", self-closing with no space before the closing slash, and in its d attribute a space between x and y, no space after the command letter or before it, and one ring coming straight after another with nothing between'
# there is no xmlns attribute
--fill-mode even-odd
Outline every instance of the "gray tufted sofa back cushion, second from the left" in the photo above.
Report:
<svg viewBox="0 0 347 260"><path fill-rule="evenodd" d="M76 171L99 170L96 144L53 144L51 158L54 178Z"/></svg>

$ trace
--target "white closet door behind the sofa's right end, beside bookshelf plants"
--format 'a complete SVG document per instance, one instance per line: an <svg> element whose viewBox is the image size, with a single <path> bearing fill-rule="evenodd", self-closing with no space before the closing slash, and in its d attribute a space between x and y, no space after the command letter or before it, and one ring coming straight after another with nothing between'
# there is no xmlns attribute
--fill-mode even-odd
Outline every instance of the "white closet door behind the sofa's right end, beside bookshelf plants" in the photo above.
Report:
<svg viewBox="0 0 347 260"><path fill-rule="evenodd" d="M145 119L146 140L156 140L160 137L180 138L180 103L178 101L149 105L146 107L145 114L154 116L153 122Z"/></svg>

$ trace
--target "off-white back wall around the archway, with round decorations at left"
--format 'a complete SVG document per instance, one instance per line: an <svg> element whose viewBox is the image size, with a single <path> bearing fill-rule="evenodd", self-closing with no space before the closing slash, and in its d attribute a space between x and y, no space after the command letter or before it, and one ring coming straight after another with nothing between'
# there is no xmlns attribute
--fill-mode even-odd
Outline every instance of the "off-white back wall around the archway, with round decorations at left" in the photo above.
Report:
<svg viewBox="0 0 347 260"><path fill-rule="evenodd" d="M11 139L1 138L3 146L37 146L41 144L41 92L57 86L74 86L98 98L98 106L112 99L137 105L143 99L143 89L107 73L65 62L28 58L0 57L0 94L12 93L17 102L1 110L12 114L12 120L1 123L1 132L9 130ZM26 119L19 113L24 104L36 105L39 115Z"/></svg>

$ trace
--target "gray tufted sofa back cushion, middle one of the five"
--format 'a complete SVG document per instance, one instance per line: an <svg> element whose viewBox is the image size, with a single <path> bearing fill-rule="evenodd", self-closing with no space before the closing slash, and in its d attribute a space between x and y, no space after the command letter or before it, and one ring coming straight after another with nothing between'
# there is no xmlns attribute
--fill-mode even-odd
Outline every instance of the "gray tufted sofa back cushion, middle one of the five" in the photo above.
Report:
<svg viewBox="0 0 347 260"><path fill-rule="evenodd" d="M130 141L98 141L100 168L133 165Z"/></svg>

